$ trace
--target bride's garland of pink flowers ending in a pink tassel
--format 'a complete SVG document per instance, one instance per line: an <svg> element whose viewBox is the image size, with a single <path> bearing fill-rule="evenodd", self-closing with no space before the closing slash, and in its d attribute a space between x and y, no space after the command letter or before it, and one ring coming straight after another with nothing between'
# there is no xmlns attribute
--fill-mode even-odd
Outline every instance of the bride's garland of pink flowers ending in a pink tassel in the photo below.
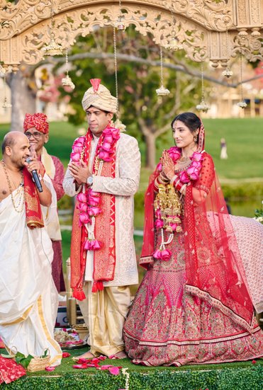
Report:
<svg viewBox="0 0 263 390"><path fill-rule="evenodd" d="M168 154L171 157L172 161L174 161L174 164L176 164L177 160L181 157L181 149L178 147L171 147L168 150ZM195 151L194 154L190 157L191 164L186 170L181 171L178 175L178 180L180 180L181 183L187 184L191 180L198 180L199 174L202 168L202 162L203 161L203 154L199 151ZM157 170L162 171L162 163L159 163L157 165ZM174 237L174 231L177 233L181 232L181 216L177 216L174 218L174 216L169 215L168 218L171 220L167 226L164 226L164 220L162 219L162 212L160 208L157 208L155 210L155 227L157 229L162 229L162 243L160 248L156 249L156 251L153 253L153 257L157 258L158 260L164 260L168 261L171 256L172 252L169 251L169 249L165 248L165 245L172 242L172 239ZM180 219L180 221L178 220ZM171 232L169 239L167 242L164 242L164 230Z"/></svg>

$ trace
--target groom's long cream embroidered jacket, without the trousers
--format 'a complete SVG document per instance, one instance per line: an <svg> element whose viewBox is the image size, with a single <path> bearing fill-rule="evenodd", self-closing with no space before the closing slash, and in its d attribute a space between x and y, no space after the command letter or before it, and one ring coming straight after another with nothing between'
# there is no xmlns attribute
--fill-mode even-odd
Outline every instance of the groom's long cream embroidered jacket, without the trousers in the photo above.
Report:
<svg viewBox="0 0 263 390"><path fill-rule="evenodd" d="M140 182L140 151L135 138L128 134L121 133L120 135L116 146L116 178L94 176L92 185L92 189L98 193L116 195L115 276L111 282L103 282L104 286L124 286L138 283L133 241L133 195L138 190ZM96 142L91 142L91 155L95 149ZM69 169L65 174L63 188L67 195L76 195L74 178ZM89 275L86 274L87 280L89 280Z"/></svg>

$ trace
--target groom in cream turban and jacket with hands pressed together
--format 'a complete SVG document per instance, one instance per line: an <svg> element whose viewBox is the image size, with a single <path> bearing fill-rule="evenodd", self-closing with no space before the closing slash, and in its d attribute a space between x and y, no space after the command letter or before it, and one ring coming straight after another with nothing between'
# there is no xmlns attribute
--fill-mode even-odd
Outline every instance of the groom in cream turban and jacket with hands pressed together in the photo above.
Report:
<svg viewBox="0 0 263 390"><path fill-rule="evenodd" d="M77 195L71 246L71 287L89 327L82 357L126 357L123 324L129 285L138 283L133 195L140 180L138 142L111 122L117 99L91 79L82 106L89 129L75 140L63 187Z"/></svg>

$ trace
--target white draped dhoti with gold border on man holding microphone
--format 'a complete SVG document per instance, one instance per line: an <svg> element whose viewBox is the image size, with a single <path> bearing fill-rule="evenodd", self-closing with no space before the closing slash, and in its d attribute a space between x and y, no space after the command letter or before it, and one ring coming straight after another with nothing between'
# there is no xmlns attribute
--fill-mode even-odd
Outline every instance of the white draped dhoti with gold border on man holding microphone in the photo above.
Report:
<svg viewBox="0 0 263 390"><path fill-rule="evenodd" d="M0 248L4 344L13 352L36 357L48 348L51 365L59 365L62 352L53 339L58 302L51 275L52 243L44 228L28 228L25 207L16 212L11 195L0 202Z"/></svg>

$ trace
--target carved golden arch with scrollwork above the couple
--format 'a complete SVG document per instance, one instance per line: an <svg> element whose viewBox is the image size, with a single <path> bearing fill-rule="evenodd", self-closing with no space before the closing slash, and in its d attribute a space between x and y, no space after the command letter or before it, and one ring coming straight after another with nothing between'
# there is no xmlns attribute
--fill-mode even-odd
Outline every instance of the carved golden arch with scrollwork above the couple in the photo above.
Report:
<svg viewBox="0 0 263 390"><path fill-rule="evenodd" d="M63 48L103 26L135 26L166 46L175 36L195 62L227 67L230 57L263 60L263 0L0 0L0 61L16 71L43 59L52 34ZM52 18L51 18L52 17Z"/></svg>

